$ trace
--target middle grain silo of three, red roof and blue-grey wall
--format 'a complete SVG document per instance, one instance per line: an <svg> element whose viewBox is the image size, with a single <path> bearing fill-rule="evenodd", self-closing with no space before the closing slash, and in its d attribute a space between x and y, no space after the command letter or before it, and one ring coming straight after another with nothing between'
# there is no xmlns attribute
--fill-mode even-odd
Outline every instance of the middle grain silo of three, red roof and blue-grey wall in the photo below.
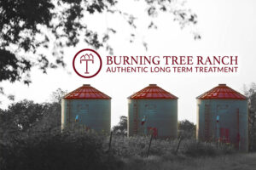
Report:
<svg viewBox="0 0 256 170"><path fill-rule="evenodd" d="M177 138L177 97L149 84L128 97L128 136Z"/></svg>

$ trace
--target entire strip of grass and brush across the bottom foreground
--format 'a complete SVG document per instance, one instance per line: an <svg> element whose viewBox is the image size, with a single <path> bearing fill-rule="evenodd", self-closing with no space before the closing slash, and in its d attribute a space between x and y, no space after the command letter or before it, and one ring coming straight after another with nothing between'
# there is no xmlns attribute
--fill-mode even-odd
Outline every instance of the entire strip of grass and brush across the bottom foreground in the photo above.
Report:
<svg viewBox="0 0 256 170"><path fill-rule="evenodd" d="M148 154L149 141L113 135L109 149L109 136L95 133L17 135L0 140L0 169L256 170L256 153L239 153L230 144L153 139Z"/></svg>

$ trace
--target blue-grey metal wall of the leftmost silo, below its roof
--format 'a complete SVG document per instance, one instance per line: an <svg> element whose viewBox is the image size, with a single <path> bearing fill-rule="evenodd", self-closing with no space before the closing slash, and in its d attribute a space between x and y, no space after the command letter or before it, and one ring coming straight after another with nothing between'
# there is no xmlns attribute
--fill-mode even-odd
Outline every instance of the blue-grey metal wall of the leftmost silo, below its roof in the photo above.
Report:
<svg viewBox="0 0 256 170"><path fill-rule="evenodd" d="M111 124L111 100L110 99L62 99L61 103L62 129L69 122L84 124L88 129L98 133L110 133Z"/></svg>

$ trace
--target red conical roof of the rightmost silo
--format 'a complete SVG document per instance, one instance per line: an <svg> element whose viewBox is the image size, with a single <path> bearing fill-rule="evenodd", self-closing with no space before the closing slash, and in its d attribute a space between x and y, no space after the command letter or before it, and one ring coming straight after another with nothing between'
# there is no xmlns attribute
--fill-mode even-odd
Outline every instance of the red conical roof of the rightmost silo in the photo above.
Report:
<svg viewBox="0 0 256 170"><path fill-rule="evenodd" d="M236 92L236 90L228 87L226 84L218 84L217 87L201 94L196 99L247 99L247 97Z"/></svg>

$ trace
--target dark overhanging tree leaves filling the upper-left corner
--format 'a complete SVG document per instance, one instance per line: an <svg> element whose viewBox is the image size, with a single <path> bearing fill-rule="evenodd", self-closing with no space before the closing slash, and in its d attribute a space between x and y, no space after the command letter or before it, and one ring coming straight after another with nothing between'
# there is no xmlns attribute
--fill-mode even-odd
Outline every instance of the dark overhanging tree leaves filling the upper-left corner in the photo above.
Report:
<svg viewBox="0 0 256 170"><path fill-rule="evenodd" d="M29 84L32 66L38 65L44 73L47 68L65 66L62 48L75 46L79 42L79 31L85 32L85 42L99 48L101 44L96 32L88 30L80 20L84 13L102 13L114 3L113 0L94 3L83 0L1 1L0 56L3 71L0 82L20 81L21 76L26 73L24 83ZM50 62L50 58L38 52L40 49L49 49L49 46L53 46L52 56L55 57ZM25 54L36 57L26 57Z"/></svg>

